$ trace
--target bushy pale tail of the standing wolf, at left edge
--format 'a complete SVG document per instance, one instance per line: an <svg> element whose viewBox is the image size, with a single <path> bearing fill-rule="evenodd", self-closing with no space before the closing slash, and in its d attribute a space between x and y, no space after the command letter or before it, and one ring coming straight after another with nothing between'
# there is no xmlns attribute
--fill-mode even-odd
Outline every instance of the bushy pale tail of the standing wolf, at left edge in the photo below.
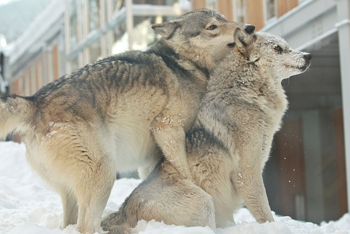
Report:
<svg viewBox="0 0 350 234"><path fill-rule="evenodd" d="M11 95L0 99L0 140L12 132L23 132L32 113L30 98Z"/></svg>

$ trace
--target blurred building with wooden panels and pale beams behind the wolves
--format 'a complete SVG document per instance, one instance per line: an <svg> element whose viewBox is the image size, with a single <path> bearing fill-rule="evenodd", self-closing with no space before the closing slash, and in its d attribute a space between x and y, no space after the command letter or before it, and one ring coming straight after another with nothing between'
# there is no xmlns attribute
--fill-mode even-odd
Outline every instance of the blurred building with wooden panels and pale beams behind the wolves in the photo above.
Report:
<svg viewBox="0 0 350 234"><path fill-rule="evenodd" d="M24 2L0 5L0 13L15 4L23 8ZM350 0L31 2L23 12L33 9L34 16L0 16L1 94L32 95L87 63L129 49L144 50L159 39L151 24L197 8L253 24L312 53L310 70L283 83L290 107L264 170L266 192L272 210L299 220L318 223L348 212ZM14 28L21 16L27 20Z"/></svg>

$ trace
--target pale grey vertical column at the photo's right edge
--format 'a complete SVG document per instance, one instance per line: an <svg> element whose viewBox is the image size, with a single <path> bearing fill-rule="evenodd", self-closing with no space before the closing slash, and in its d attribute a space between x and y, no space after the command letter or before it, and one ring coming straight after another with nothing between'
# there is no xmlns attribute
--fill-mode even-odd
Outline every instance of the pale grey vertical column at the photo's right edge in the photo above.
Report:
<svg viewBox="0 0 350 234"><path fill-rule="evenodd" d="M347 171L348 210L350 210L350 0L336 0L342 80L345 163Z"/></svg>

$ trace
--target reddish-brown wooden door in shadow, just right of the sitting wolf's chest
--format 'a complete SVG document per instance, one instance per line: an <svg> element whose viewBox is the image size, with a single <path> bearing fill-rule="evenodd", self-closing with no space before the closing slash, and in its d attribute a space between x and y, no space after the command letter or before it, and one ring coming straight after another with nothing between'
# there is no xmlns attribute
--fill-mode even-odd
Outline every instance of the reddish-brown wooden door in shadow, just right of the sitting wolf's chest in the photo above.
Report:
<svg viewBox="0 0 350 234"><path fill-rule="evenodd" d="M305 220L306 188L302 119L286 120L276 135L282 215Z"/></svg>

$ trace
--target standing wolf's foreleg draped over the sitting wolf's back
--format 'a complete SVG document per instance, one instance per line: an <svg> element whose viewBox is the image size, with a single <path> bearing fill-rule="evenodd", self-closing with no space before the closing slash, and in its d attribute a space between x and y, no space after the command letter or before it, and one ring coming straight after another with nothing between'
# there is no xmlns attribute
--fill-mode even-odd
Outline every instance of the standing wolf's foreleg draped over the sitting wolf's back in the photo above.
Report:
<svg viewBox="0 0 350 234"><path fill-rule="evenodd" d="M159 115L153 119L151 131L167 160L182 176L191 178L186 157L185 131L181 119L177 116Z"/></svg>

